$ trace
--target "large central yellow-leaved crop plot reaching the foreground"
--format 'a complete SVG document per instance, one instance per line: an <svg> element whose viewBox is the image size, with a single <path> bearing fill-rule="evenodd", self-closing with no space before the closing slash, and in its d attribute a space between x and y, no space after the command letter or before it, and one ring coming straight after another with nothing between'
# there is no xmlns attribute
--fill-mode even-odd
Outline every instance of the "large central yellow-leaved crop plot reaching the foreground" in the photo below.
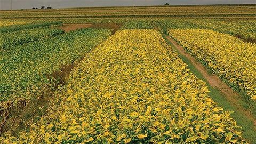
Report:
<svg viewBox="0 0 256 144"><path fill-rule="evenodd" d="M0 142L243 143L229 112L156 30L119 30L84 58L51 111Z"/></svg>

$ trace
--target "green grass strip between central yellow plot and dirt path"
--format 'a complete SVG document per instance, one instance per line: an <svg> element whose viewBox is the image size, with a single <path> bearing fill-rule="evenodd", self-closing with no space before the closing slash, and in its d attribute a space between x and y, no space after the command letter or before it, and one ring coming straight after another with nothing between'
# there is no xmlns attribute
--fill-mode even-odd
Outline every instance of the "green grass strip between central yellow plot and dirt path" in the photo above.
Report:
<svg viewBox="0 0 256 144"><path fill-rule="evenodd" d="M165 39L165 41L175 49L175 46L172 45L172 43L166 38L166 36L163 34L162 36ZM206 82L206 86L209 87L209 91L210 91L208 94L210 95L212 100L214 102L217 102L219 106L221 106L224 110L234 111L234 113L232 113L230 117L234 118L237 122L237 125L242 127L242 130L241 130L243 131L241 134L242 138L245 139L246 142L256 143L256 136L255 136L256 130L255 130L253 121L247 118L243 113L239 113L239 111L237 111L237 108L234 106L234 104L230 103L225 98L225 96L223 96L223 94L219 89L214 88L210 86L209 83L207 83L207 80L204 78L202 73L191 63L191 61L188 58L183 56L177 49L175 50L179 53L179 56L182 59L182 61L188 65L187 68L190 69L190 72L193 73L195 76L197 76L199 79L202 79L204 82ZM244 102L242 97L241 99L238 99L238 101L239 101L239 104L243 106L243 108L245 109L250 108L249 104Z"/></svg>

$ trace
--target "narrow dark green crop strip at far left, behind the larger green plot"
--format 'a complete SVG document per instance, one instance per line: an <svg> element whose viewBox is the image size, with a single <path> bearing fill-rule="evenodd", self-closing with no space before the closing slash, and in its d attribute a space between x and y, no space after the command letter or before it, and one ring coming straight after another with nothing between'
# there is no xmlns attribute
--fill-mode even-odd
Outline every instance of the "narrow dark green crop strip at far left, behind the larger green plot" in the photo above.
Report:
<svg viewBox="0 0 256 144"><path fill-rule="evenodd" d="M0 33L17 31L17 30L25 30L25 29L33 29L33 28L50 28L53 26L62 26L62 25L63 25L62 21L27 23L24 25L0 27Z"/></svg>

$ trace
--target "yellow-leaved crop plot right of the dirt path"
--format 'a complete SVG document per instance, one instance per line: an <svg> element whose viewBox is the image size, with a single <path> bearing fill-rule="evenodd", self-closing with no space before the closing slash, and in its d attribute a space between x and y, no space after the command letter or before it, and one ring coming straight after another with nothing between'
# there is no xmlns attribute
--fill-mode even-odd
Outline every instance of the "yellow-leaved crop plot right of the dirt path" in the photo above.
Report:
<svg viewBox="0 0 256 144"><path fill-rule="evenodd" d="M255 44L206 29L169 29L168 33L223 81L256 99Z"/></svg>

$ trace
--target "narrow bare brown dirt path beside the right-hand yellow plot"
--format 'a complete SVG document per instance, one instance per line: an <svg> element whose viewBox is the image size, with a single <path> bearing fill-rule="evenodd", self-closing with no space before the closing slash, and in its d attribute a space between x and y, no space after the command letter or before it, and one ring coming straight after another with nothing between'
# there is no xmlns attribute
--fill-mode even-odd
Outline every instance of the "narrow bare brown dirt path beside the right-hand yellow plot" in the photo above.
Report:
<svg viewBox="0 0 256 144"><path fill-rule="evenodd" d="M207 72L207 69L200 62L198 62L198 60L196 60L193 56L187 53L177 42L174 41L174 39L172 39L170 36L165 36L184 57L188 58L191 61L191 63L203 75L203 77L206 79L211 87L219 89L223 96L225 96L228 102L230 102L231 105L233 105L239 113L243 113L247 118L251 119L251 121L254 122L254 130L256 130L256 119L254 119L250 111L244 108L239 102L241 96L233 89L231 89L226 83L222 82L217 75L209 74Z"/></svg>

